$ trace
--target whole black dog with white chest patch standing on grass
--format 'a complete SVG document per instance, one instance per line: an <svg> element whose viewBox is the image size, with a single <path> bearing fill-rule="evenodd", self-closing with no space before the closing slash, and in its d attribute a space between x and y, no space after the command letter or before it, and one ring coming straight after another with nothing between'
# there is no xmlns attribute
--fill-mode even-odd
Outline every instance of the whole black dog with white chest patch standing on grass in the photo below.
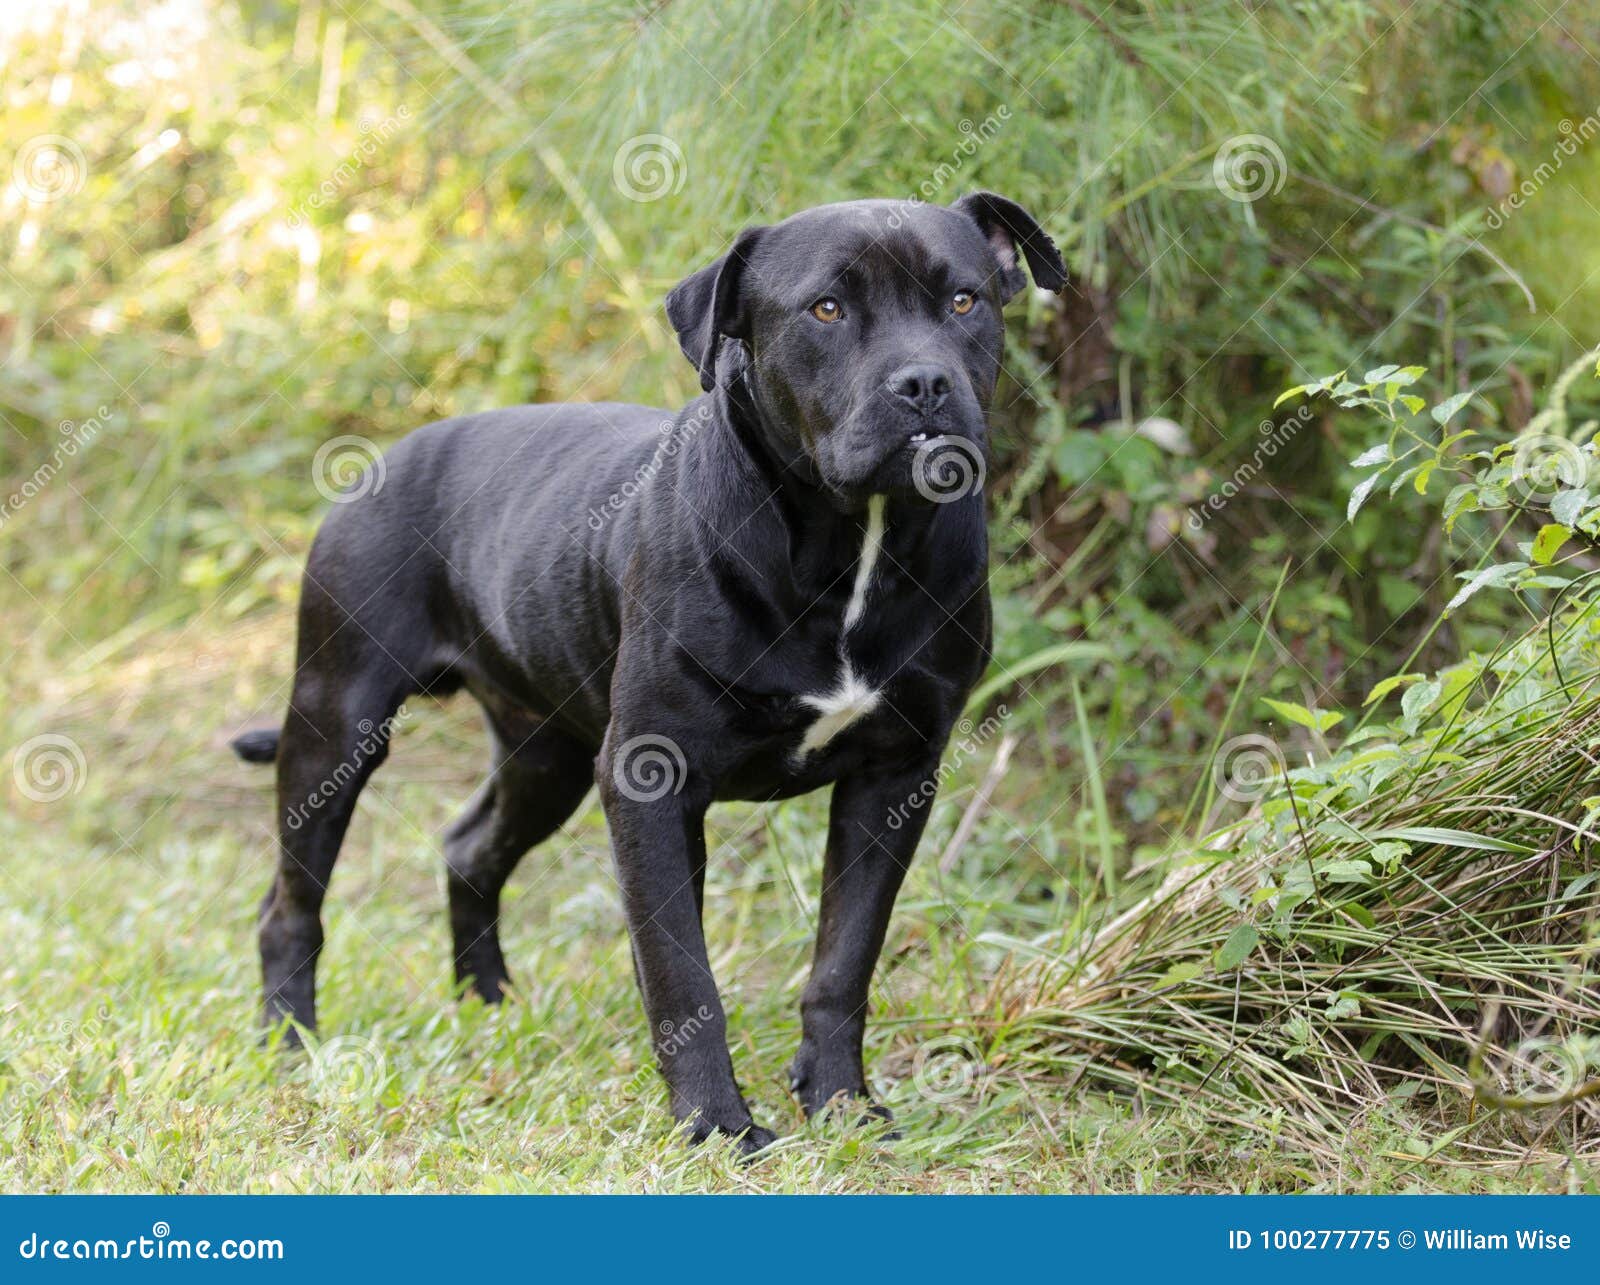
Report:
<svg viewBox="0 0 1600 1285"><path fill-rule="evenodd" d="M667 296L706 389L683 411L430 424L333 509L283 731L235 743L278 762L269 1024L315 1026L323 891L392 715L464 687L493 757L445 839L458 981L501 997L501 888L597 781L674 1115L757 1151L773 1133L734 1083L701 931L702 821L834 783L790 1074L808 1114L866 1098L872 968L989 659L981 467L1019 259L1066 283L1034 218L987 192L746 230Z"/></svg>

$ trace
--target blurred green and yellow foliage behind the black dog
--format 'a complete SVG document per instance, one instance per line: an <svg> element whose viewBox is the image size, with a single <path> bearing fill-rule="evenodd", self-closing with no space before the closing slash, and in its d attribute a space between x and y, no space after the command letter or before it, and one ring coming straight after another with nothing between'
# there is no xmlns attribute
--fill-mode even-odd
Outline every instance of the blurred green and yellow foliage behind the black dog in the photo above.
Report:
<svg viewBox="0 0 1600 1285"><path fill-rule="evenodd" d="M1011 309L990 693L1019 744L974 858L1008 931L1054 923L1040 896L1224 818L1194 792L1261 698L1354 709L1528 619L1442 619L1501 533L1413 486L1347 522L1371 424L1274 403L1403 362L1430 400L1477 389L1491 435L1528 422L1600 338L1595 48L1600 13L1555 0L14 0L0 733L69 731L88 786L13 794L0 835L62 863L246 835L218 938L243 1002L270 839L221 746L285 699L318 450L682 403L662 298L741 227L984 187L1074 277ZM458 714L413 784L469 787Z"/></svg>

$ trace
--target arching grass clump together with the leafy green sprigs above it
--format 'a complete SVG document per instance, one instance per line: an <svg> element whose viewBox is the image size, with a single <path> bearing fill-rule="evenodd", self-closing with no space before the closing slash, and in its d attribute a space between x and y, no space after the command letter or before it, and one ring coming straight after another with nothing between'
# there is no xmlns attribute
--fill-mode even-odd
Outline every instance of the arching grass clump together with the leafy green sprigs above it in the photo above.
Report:
<svg viewBox="0 0 1600 1285"><path fill-rule="evenodd" d="M1594 362L1490 448L1451 424L1470 395L1421 413L1403 390L1418 368L1298 390L1389 429L1357 461L1379 472L1352 510L1389 472L1422 491L1421 469L1461 478L1446 520L1486 520L1486 539L1446 618L1501 587L1534 624L1378 683L1366 709L1394 701L1395 717L1331 751L1341 714L1270 703L1286 730L1234 738L1211 765L1243 818L1179 848L1131 903L1030 943L994 1056L1330 1146L1408 1099L1437 1109L1421 1157L1600 1154L1600 518L1595 426L1568 414ZM1528 515L1558 520L1518 541Z"/></svg>

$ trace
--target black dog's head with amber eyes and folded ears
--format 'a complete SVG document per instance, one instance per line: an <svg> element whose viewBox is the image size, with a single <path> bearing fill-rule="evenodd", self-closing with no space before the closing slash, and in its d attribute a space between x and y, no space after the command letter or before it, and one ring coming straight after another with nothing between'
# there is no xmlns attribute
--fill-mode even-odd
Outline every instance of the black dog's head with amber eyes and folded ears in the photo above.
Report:
<svg viewBox="0 0 1600 1285"><path fill-rule="evenodd" d="M667 296L667 317L701 386L742 376L768 445L808 480L845 502L926 494L928 443L974 462L986 450L1022 262L1045 290L1066 285L1054 242L992 192L824 205L742 232Z"/></svg>

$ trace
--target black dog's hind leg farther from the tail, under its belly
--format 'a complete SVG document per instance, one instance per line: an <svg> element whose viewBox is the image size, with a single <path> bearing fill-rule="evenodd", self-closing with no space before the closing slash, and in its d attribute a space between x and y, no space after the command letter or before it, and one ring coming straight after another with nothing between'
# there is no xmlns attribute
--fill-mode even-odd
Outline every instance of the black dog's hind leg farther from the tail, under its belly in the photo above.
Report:
<svg viewBox="0 0 1600 1285"><path fill-rule="evenodd" d="M523 853L552 835L594 784L594 751L547 723L490 717L490 779L445 834L456 986L498 1003L507 981L499 899Z"/></svg>

